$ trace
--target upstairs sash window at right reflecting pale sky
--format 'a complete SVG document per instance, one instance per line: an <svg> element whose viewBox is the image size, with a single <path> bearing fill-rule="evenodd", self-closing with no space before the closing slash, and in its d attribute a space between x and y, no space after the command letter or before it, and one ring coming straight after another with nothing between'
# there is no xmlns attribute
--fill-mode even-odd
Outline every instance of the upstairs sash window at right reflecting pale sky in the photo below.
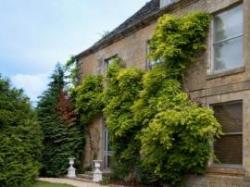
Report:
<svg viewBox="0 0 250 187"><path fill-rule="evenodd" d="M242 5L216 15L213 19L212 71L223 72L243 66Z"/></svg>

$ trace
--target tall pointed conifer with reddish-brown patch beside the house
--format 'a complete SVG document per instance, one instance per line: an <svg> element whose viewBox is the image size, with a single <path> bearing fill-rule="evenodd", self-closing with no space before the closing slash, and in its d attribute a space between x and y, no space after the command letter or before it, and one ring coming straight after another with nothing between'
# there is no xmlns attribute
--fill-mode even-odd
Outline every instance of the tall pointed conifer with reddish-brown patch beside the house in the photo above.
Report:
<svg viewBox="0 0 250 187"><path fill-rule="evenodd" d="M68 158L80 160L83 146L82 129L76 121L64 89L64 72L57 65L48 89L37 106L38 120L44 134L41 174L60 176L66 173ZM79 164L79 163L77 163Z"/></svg>

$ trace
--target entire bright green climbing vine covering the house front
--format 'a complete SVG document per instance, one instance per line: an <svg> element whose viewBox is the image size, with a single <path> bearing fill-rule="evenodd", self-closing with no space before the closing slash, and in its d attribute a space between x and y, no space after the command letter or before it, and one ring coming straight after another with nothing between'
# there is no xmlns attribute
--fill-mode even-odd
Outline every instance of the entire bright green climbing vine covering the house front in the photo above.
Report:
<svg viewBox="0 0 250 187"><path fill-rule="evenodd" d="M104 84L99 76L87 76L77 88L83 123L104 107L116 177L177 186L184 175L205 171L221 127L212 110L189 99L182 80L205 49L209 21L200 12L162 16L149 54L161 63L142 72L116 59Z"/></svg>

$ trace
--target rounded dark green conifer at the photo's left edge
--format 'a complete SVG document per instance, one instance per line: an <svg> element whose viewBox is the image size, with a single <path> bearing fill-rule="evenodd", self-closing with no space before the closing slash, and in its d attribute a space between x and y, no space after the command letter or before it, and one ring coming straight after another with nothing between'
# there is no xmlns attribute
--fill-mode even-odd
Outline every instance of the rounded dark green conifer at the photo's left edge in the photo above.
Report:
<svg viewBox="0 0 250 187"><path fill-rule="evenodd" d="M34 182L41 142L28 98L0 77L0 186L26 187Z"/></svg>

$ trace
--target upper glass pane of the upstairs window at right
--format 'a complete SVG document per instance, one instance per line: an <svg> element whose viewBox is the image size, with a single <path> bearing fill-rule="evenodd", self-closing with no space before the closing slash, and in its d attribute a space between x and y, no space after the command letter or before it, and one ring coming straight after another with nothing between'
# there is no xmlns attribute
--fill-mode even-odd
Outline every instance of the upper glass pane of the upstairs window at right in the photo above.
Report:
<svg viewBox="0 0 250 187"><path fill-rule="evenodd" d="M225 11L214 18L214 40L221 41L243 33L242 6Z"/></svg>

